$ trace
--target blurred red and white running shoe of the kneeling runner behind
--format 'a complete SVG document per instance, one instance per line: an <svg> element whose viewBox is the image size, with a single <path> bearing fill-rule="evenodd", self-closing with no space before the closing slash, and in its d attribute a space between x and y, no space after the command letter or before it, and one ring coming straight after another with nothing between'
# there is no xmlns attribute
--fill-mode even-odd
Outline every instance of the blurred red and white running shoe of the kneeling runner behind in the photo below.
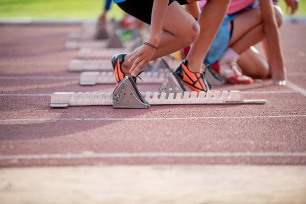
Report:
<svg viewBox="0 0 306 204"><path fill-rule="evenodd" d="M218 72L221 78L231 84L251 84L252 78L244 75L237 62L228 60L226 62L216 61L211 67Z"/></svg>

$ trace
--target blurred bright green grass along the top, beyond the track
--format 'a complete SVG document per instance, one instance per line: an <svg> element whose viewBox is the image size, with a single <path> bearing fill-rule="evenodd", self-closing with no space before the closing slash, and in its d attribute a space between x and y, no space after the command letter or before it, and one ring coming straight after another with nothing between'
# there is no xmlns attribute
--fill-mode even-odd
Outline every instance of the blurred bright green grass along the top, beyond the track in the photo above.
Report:
<svg viewBox="0 0 306 204"><path fill-rule="evenodd" d="M103 10L104 2L104 0L0 0L0 17L96 18ZM305 15L306 0L300 0L299 5L297 14ZM284 0L281 0L280 6L286 14ZM109 17L120 19L122 16L123 12L117 5L112 4Z"/></svg>

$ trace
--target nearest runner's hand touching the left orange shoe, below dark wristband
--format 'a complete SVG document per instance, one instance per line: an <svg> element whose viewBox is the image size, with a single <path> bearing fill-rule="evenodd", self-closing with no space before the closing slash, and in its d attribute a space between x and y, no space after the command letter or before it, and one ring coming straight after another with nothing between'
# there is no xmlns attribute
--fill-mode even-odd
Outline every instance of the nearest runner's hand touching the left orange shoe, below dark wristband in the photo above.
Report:
<svg viewBox="0 0 306 204"><path fill-rule="evenodd" d="M143 44L138 52L129 59L129 62L135 60L130 69L132 77L136 77L141 69L151 61L155 51L156 48Z"/></svg>

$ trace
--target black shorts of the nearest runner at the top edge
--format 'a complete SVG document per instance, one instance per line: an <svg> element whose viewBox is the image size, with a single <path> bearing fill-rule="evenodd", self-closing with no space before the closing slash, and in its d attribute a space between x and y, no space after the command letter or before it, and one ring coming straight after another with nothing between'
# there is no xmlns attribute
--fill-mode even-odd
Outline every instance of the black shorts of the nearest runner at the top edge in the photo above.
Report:
<svg viewBox="0 0 306 204"><path fill-rule="evenodd" d="M117 5L125 13L128 13L147 24L150 24L153 2L154 0L126 0L124 2L117 3ZM186 0L169 0L168 5L173 2L177 2L180 5L189 4Z"/></svg>

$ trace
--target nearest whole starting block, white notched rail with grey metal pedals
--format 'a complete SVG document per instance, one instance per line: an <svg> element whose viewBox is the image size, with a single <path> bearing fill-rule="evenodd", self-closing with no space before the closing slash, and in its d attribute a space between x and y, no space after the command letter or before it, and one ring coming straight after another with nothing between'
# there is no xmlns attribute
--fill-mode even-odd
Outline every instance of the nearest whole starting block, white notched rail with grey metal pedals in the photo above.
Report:
<svg viewBox="0 0 306 204"><path fill-rule="evenodd" d="M114 108L148 109L150 105L182 104L265 104L266 100L245 100L240 91L188 92L170 73L158 92L139 92L132 77L125 77L113 92L56 92L50 107L113 106Z"/></svg>

